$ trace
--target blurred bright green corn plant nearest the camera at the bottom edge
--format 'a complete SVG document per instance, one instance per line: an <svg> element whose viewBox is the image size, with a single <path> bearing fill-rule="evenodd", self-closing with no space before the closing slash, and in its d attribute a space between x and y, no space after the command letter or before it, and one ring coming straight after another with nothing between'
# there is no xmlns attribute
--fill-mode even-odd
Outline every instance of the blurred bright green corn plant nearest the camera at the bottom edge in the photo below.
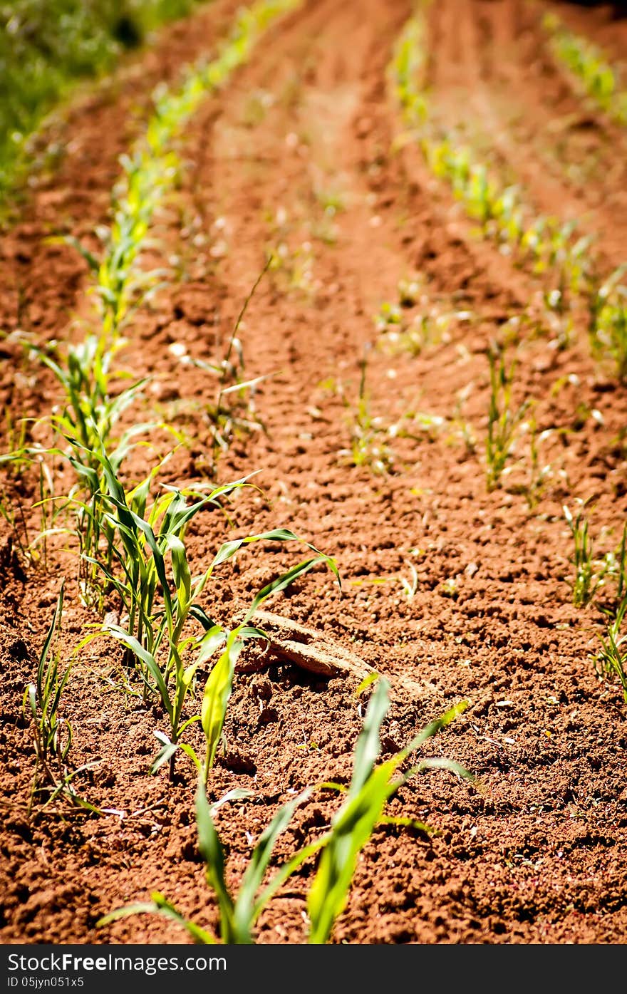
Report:
<svg viewBox="0 0 627 994"><path fill-rule="evenodd" d="M153 893L151 901L130 905L112 911L97 922L99 927L132 914L158 914L177 922L199 944L225 942L250 944L254 942L254 926L273 895L302 864L321 853L318 867L308 895L310 943L327 942L338 915L344 911L360 853L370 841L378 825L400 824L427 830L422 823L408 818L389 818L385 815L388 802L410 779L427 769L449 769L461 776L469 774L458 763L446 758L418 760L404 771L400 767L431 736L445 728L465 705L458 705L420 732L404 749L392 758L380 761L381 726L390 707L390 687L379 680L373 693L364 728L355 749L354 770L346 790L344 803L335 814L331 828L319 839L298 850L284 863L263 886L270 866L272 853L280 834L288 827L296 808L309 797L305 790L279 809L259 836L236 894L227 882L227 859L218 835L214 818L218 807L227 800L238 799L245 791L232 791L218 804L210 807L202 781L196 796L196 819L199 848L205 861L207 883L214 892L220 913L219 935L188 920L160 893ZM335 788L335 784L323 784ZM342 788L344 789L344 788Z"/></svg>

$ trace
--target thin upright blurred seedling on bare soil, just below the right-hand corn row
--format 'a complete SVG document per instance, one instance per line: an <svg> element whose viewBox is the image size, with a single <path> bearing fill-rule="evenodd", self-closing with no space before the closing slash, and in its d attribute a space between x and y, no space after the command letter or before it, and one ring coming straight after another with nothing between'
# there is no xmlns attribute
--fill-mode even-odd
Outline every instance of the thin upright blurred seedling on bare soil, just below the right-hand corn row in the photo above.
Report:
<svg viewBox="0 0 627 994"><path fill-rule="evenodd" d="M486 463L488 490L500 485L501 477L513 451L519 425L523 421L528 402L512 408L512 387L516 362L508 368L503 354L495 349L488 353L490 363L490 406L488 409L488 437Z"/></svg>

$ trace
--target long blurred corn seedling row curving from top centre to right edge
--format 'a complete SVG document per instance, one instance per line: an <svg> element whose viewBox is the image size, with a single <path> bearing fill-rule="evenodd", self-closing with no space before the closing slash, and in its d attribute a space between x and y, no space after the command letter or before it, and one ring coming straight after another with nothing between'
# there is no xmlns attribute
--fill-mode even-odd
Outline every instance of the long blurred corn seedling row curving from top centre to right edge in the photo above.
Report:
<svg viewBox="0 0 627 994"><path fill-rule="evenodd" d="M614 363L627 377L627 287L625 266L607 277L597 271L590 236L578 237L576 224L534 216L517 186L503 187L472 149L459 145L453 132L442 135L429 114L426 87L426 19L419 7L395 46L390 76L409 134L418 141L429 168L445 180L485 237L511 252L519 264L530 262L549 288L544 304L557 343L567 345L573 332L573 309L589 309L588 331L598 357Z"/></svg>

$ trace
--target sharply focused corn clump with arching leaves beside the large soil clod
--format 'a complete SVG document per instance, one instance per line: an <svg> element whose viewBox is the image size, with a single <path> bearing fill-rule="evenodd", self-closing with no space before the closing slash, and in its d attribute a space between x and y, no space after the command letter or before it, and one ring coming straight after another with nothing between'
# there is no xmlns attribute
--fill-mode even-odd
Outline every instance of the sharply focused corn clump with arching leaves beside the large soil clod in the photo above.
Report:
<svg viewBox="0 0 627 994"><path fill-rule="evenodd" d="M151 476L127 494L103 449L99 459L106 482L102 503L108 507L102 517L110 541L106 560L89 562L118 593L125 618L125 625L110 623L104 630L125 647L126 661L134 660L144 700L156 696L167 715L170 734L159 735L163 747L152 771L169 761L172 776L179 748L201 768L192 747L182 741L187 729L201 721L207 739L206 778L220 743L237 656L246 639L265 637L248 623L252 615L267 597L319 565L327 566L339 582L337 567L328 556L304 543L314 555L263 586L243 621L228 631L212 620L202 603L203 591L213 580L215 570L252 543L301 540L286 529L275 529L227 542L209 569L194 578L185 545L187 526L199 512L220 507L221 499L245 485L245 480L223 485L209 494L192 492L192 503L188 503L189 493L167 488L164 495L149 503ZM191 622L200 624L200 637L189 634L187 626ZM224 651L207 681L201 715L186 717L199 667L222 646Z"/></svg>

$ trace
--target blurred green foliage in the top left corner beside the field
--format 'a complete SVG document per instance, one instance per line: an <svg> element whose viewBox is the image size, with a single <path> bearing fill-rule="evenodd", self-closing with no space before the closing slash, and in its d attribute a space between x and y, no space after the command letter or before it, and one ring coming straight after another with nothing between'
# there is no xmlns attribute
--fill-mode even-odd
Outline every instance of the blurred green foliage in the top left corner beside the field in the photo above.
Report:
<svg viewBox="0 0 627 994"><path fill-rule="evenodd" d="M199 0L0 0L0 194L42 117Z"/></svg>

